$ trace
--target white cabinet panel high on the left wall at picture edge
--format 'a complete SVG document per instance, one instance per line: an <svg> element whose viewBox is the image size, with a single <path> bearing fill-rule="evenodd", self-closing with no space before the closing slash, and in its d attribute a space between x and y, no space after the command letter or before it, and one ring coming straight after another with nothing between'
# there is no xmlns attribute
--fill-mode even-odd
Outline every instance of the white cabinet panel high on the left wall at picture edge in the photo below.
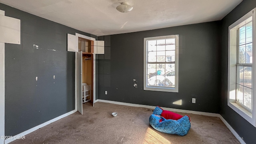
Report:
<svg viewBox="0 0 256 144"><path fill-rule="evenodd" d="M1 12L2 14L3 12ZM0 14L0 42L20 44L20 20Z"/></svg>

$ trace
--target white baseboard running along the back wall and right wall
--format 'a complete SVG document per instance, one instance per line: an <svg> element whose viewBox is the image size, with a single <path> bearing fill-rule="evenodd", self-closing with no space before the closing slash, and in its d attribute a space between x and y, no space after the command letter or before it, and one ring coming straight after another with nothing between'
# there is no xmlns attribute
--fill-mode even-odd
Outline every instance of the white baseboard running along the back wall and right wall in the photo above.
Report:
<svg viewBox="0 0 256 144"><path fill-rule="evenodd" d="M96 100L97 102L106 102L110 104L118 104L118 105L124 105L124 106L134 106L134 107L141 107L141 108L150 108L150 109L155 109L156 106L148 106L148 105L142 105L142 104L131 104L131 103L126 103L126 102L116 102L116 101L111 101L111 100ZM238 139L238 141L241 144L246 144L244 140L236 133L236 131L228 124L228 122L220 115L220 114L214 114L214 113L209 113L209 112L197 112L197 111L192 111L192 110L180 110L180 109L175 109L175 108L165 108L161 107L164 110L169 110L172 112L183 112L183 113L188 113L188 114L198 114L198 115L204 115L204 116L214 116L214 117L219 117L220 120L227 126L227 128L234 134L234 136Z"/></svg>

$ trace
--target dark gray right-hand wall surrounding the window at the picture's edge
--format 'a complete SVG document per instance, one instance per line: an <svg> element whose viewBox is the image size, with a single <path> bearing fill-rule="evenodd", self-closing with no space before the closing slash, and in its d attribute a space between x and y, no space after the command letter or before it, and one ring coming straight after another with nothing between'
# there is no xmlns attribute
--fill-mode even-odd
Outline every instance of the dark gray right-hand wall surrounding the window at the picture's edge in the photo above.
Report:
<svg viewBox="0 0 256 144"><path fill-rule="evenodd" d="M243 138L246 144L255 144L256 128L228 106L228 26L256 7L255 0L243 0L232 12L222 19L220 51L220 95L222 117Z"/></svg>

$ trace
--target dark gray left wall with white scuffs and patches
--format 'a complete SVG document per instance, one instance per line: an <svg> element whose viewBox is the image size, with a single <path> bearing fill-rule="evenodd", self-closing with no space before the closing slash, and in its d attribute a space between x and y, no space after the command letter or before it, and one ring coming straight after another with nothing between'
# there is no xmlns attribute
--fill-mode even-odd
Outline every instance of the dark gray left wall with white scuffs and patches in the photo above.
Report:
<svg viewBox="0 0 256 144"><path fill-rule="evenodd" d="M0 10L21 21L21 44L5 44L5 135L14 136L75 109L67 34L96 36L1 3Z"/></svg>

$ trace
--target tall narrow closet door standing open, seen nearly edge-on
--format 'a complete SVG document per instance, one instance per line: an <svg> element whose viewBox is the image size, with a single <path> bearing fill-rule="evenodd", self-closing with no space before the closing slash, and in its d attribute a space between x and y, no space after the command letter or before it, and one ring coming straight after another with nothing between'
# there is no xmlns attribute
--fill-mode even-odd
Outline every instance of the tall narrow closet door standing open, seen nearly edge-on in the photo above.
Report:
<svg viewBox="0 0 256 144"><path fill-rule="evenodd" d="M82 103L82 52L78 52L78 74L77 74L77 91L78 91L78 112L83 114L83 103Z"/></svg>

